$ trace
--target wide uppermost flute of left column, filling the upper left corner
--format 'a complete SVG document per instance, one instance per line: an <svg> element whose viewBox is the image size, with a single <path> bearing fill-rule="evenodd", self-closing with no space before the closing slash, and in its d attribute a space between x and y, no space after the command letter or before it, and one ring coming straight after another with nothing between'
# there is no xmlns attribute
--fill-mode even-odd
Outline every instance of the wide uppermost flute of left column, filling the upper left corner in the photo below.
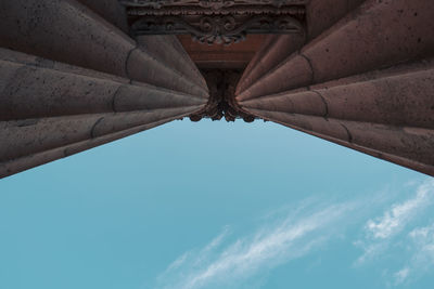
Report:
<svg viewBox="0 0 434 289"><path fill-rule="evenodd" d="M75 0L1 1L0 18L0 47L207 97L200 81L158 62Z"/></svg>

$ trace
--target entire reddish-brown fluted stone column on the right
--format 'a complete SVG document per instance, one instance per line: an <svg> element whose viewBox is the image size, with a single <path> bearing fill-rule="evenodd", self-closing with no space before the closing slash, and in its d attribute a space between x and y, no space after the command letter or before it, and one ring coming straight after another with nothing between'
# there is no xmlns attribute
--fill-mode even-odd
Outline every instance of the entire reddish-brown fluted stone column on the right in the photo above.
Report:
<svg viewBox="0 0 434 289"><path fill-rule="evenodd" d="M308 39L318 36L296 52L268 49L286 58L250 86L240 83L238 103L257 117L434 175L434 2L310 2L315 13L330 11L315 24L322 28L308 27Z"/></svg>

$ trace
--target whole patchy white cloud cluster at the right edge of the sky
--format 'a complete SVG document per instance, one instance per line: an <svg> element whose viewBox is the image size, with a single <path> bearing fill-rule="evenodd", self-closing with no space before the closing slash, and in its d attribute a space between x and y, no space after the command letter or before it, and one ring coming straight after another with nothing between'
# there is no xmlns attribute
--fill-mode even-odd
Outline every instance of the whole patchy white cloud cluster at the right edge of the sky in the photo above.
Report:
<svg viewBox="0 0 434 289"><path fill-rule="evenodd" d="M384 257L392 248L400 248L404 250L403 266L390 276L392 281L388 281L394 286L409 283L433 267L434 224L418 227L417 222L433 202L434 179L430 179L418 186L413 197L391 206L382 216L366 222L365 238L355 242L363 249L356 265Z"/></svg>

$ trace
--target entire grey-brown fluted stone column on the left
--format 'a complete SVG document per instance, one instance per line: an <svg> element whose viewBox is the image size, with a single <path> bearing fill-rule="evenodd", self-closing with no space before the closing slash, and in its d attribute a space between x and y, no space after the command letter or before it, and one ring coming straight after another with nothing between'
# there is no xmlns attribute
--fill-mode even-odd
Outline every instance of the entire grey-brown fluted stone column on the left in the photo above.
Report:
<svg viewBox="0 0 434 289"><path fill-rule="evenodd" d="M178 40L131 39L116 5L0 2L0 178L206 105L206 83Z"/></svg>

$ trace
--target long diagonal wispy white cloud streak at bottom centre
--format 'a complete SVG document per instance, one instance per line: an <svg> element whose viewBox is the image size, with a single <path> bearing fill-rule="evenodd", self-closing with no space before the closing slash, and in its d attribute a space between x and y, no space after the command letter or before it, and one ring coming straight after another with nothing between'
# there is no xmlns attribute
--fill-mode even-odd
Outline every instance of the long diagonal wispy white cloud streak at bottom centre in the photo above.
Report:
<svg viewBox="0 0 434 289"><path fill-rule="evenodd" d="M306 255L333 235L354 203L289 212L286 218L260 226L247 237L225 244L228 229L204 249L188 252L159 277L159 288L206 288L235 284L253 274ZM289 215L289 216L288 216Z"/></svg>

